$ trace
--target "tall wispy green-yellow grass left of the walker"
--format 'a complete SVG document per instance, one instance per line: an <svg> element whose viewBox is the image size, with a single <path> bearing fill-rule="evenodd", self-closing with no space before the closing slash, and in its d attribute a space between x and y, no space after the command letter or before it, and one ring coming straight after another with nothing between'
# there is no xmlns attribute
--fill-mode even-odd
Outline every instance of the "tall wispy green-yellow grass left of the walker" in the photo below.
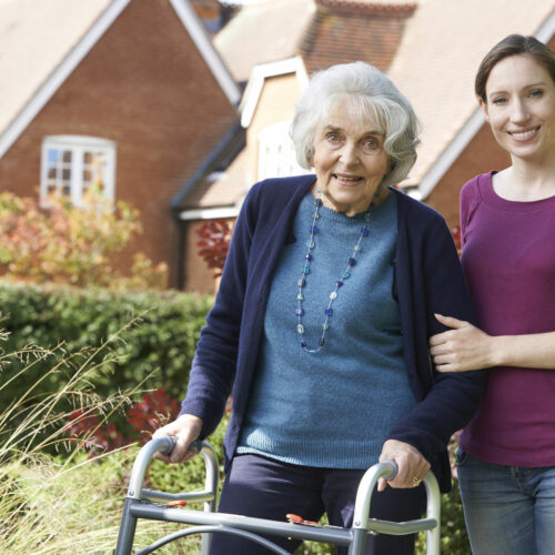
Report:
<svg viewBox="0 0 555 555"><path fill-rule="evenodd" d="M133 325L133 322L129 325ZM121 332L120 332L121 333ZM37 345L17 353L0 350L0 390L26 381L34 364L48 357L50 370L28 384L27 392L0 407L0 553L19 555L110 554L115 546L125 484L137 445L90 456L94 430L71 440L69 431L78 421L100 415L100 424L129 405L142 384L114 393L95 395L91 377L105 371L114 360L111 345L119 333L95 347L68 353L64 346ZM1 340L6 339L0 332ZM24 366L10 375L10 364ZM100 361L100 362L98 362ZM63 373L63 385L53 393L41 393L41 383ZM175 470L172 471L175 474ZM179 472L179 471L178 471ZM171 480L171 478L169 478ZM168 528L168 529L164 529ZM144 546L174 527L141 522L137 546ZM196 541L198 542L198 541ZM172 546L160 553L195 553Z"/></svg>

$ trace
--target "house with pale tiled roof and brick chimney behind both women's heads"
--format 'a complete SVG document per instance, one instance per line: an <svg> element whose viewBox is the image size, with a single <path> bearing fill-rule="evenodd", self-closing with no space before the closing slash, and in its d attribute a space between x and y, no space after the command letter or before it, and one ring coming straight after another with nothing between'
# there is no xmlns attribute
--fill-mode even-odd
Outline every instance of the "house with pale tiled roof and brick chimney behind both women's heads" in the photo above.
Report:
<svg viewBox="0 0 555 555"><path fill-rule="evenodd" d="M244 7L214 39L239 83L245 147L212 158L180 195L189 251L184 286L211 291L195 262L194 230L233 219L248 189L270 175L299 173L287 127L312 72L364 60L385 71L422 122L418 160L400 183L458 225L458 193L476 173L508 163L477 108L474 73L503 37L534 34L553 48L553 0L268 0ZM249 37L249 40L245 38ZM242 39L241 39L242 38Z"/></svg>

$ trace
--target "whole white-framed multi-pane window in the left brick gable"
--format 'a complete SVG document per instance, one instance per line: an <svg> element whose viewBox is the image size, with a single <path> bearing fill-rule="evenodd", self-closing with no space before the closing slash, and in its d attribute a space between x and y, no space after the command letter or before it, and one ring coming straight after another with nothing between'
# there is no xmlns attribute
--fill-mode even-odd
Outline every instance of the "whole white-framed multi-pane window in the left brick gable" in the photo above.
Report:
<svg viewBox="0 0 555 555"><path fill-rule="evenodd" d="M92 186L113 199L115 143L81 135L47 137L42 141L41 198L59 192L71 196L74 205Z"/></svg>

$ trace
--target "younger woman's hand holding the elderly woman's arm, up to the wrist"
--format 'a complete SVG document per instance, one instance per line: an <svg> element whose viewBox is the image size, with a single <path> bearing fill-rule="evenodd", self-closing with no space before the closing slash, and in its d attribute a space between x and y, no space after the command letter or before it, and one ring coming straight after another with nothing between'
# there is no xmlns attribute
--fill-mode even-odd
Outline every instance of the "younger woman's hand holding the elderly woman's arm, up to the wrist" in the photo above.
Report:
<svg viewBox="0 0 555 555"><path fill-rule="evenodd" d="M456 317L436 314L452 330L430 337L430 355L437 372L466 372L495 366L494 337Z"/></svg>

